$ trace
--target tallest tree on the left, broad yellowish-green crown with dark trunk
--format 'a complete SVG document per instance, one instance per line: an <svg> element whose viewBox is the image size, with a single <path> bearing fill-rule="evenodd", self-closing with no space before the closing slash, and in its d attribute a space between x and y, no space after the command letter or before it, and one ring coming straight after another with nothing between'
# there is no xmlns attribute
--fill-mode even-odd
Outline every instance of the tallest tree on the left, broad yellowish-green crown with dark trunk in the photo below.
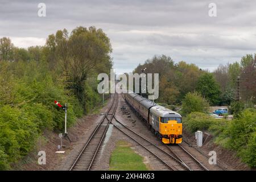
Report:
<svg viewBox="0 0 256 182"><path fill-rule="evenodd" d="M48 62L56 61L63 72L67 88L86 107L85 82L96 77L98 72L110 72L112 47L106 34L96 27L77 27L68 35L67 30L59 30L47 39Z"/></svg>

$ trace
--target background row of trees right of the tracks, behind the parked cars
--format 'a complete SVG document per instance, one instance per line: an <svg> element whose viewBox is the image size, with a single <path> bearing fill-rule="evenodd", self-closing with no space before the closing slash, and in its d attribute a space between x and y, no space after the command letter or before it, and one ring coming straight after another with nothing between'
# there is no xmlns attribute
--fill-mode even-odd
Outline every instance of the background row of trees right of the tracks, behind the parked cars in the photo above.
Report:
<svg viewBox="0 0 256 182"><path fill-rule="evenodd" d="M185 61L174 63L170 56L155 55L134 69L135 73L159 73L156 102L180 105L189 92L199 92L210 105L230 105L236 100L237 78L241 78L241 100L256 103L256 56L246 55L240 62L219 65L209 72Z"/></svg>

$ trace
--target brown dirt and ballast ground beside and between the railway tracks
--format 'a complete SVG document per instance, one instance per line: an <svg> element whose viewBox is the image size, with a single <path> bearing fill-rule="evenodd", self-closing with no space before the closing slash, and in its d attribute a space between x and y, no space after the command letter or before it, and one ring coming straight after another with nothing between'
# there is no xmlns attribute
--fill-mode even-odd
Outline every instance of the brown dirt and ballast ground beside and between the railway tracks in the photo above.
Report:
<svg viewBox="0 0 256 182"><path fill-rule="evenodd" d="M108 104L100 110L100 113L105 113L109 106L110 101L108 101ZM126 113L122 113L120 109L121 106L126 107ZM78 119L76 125L68 129L68 135L71 137L72 143L64 140L63 144L65 145L65 148L61 149L65 151L64 154L55 153L57 151L57 146L60 144L58 135L56 133L46 131L46 133L44 133L44 137L39 139L35 151L31 152L31 154L28 155L26 159L23 159L20 163L15 164L14 169L68 170L72 166L73 161L76 159L77 155L79 155L79 152L81 151L82 147L84 147L85 142L88 140L90 134L97 126L98 122L100 122L102 117L103 115L101 114L92 114ZM121 95L119 96L116 117L119 119L119 121L125 123L126 126L131 127L134 131L143 135L151 142L154 142L159 146L163 145L163 143L160 142L160 140L147 129L144 123L133 113L133 111L131 111L130 107L126 104ZM193 136L184 134L184 137L186 140L192 143L192 146L195 145L195 139L193 139ZM96 163L94 163L94 166L92 167L93 170L109 170L110 155L115 148L115 143L118 140L126 140L127 142L131 143L131 148L133 148L137 154L144 157L144 163L148 169L168 169L163 166L158 159L155 159L152 154L144 150L144 148L139 146L139 144L135 143L129 137L122 134L121 131L117 130L112 124L110 124L104 142L97 155ZM185 142L183 142L183 146L210 170L222 170L222 168L226 170L248 169L246 168L245 164L242 164L234 155L230 155L230 152L225 152L210 142L201 147L200 151L198 151L198 148L196 150L196 148L191 147ZM210 150L216 150L217 154L221 154L220 156L218 155L218 162L221 162L221 167L210 165L208 163L209 156L207 156L207 154ZM46 165L38 164L38 151L46 151Z"/></svg>

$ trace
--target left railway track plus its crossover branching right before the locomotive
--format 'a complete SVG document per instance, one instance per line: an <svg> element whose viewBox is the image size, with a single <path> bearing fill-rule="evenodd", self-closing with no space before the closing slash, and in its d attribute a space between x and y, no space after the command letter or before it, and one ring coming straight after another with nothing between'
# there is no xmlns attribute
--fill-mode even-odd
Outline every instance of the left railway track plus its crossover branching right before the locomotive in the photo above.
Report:
<svg viewBox="0 0 256 182"><path fill-rule="evenodd" d="M100 123L93 130L88 141L85 143L84 147L80 151L76 160L73 162L69 171L79 171L79 170L90 170L96 160L98 151L100 150L101 143L105 138L106 131L110 123L113 124L115 128L121 131L127 137L134 140L140 146L142 146L146 151L150 152L152 156L158 159L164 166L172 171L176 170L208 170L203 166L196 158L194 158L184 147L177 146L157 146L156 144L150 142L150 140L144 138L142 135L131 130L121 121L115 117L115 111L118 106L118 94L114 95L112 103L107 110L104 117L101 119ZM182 150L182 152L181 152ZM179 155L177 155L179 153ZM184 162L185 160L185 162Z"/></svg>

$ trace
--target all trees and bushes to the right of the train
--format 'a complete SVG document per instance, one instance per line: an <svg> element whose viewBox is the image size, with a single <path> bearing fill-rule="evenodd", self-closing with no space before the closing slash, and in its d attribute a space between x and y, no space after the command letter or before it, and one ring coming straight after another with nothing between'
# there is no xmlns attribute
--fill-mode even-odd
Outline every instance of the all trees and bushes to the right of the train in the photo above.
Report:
<svg viewBox="0 0 256 182"><path fill-rule="evenodd" d="M141 73L144 68L148 73L159 73L156 102L170 109L175 109L172 105L181 105L178 112L183 116L184 130L192 134L197 130L207 131L213 135L215 144L236 152L249 167L256 167L255 55L219 65L213 72L184 61L174 63L165 55L148 59L134 72ZM228 105L234 119L213 118L208 113L210 105Z"/></svg>

